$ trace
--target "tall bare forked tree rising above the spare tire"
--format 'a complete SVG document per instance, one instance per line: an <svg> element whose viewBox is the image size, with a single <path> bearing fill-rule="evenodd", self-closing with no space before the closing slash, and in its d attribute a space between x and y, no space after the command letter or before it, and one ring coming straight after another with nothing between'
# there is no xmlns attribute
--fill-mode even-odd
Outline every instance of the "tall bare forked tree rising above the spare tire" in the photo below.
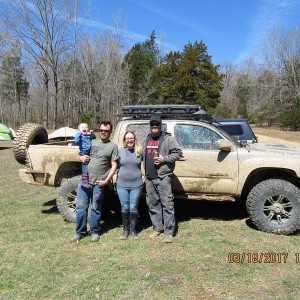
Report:
<svg viewBox="0 0 300 300"><path fill-rule="evenodd" d="M52 102L54 128L58 116L60 63L70 47L70 22L74 13L72 7L76 4L77 1L71 0L16 0L11 2L11 14L7 14L6 18L12 33L43 76L44 125L49 124L49 106Z"/></svg>

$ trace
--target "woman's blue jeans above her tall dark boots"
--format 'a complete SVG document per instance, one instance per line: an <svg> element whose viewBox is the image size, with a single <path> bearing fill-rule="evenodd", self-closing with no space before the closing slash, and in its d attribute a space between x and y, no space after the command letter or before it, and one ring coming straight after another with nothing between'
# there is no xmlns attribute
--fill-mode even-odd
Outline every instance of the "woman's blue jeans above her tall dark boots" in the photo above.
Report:
<svg viewBox="0 0 300 300"><path fill-rule="evenodd" d="M117 188L122 212L138 212L139 201L143 188Z"/></svg>

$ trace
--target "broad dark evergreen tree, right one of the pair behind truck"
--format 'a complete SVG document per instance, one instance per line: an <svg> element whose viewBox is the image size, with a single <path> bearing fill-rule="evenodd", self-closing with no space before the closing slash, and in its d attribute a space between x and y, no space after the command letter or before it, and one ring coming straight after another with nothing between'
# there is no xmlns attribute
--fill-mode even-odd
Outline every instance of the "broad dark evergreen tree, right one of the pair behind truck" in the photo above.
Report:
<svg viewBox="0 0 300 300"><path fill-rule="evenodd" d="M219 103L223 76L218 73L201 41L170 52L154 72L160 103L199 104L208 112Z"/></svg>

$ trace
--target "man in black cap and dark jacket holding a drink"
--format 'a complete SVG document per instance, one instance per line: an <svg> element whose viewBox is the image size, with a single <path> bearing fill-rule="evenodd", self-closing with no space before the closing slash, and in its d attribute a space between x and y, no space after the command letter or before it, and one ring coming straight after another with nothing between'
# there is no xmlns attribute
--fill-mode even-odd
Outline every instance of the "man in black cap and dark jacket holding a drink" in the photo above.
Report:
<svg viewBox="0 0 300 300"><path fill-rule="evenodd" d="M150 134L144 144L144 164L146 176L146 201L153 225L150 238L164 232L164 242L172 243L175 231L174 197L171 175L175 161L182 156L176 140L171 134L161 130L158 115L150 118Z"/></svg>

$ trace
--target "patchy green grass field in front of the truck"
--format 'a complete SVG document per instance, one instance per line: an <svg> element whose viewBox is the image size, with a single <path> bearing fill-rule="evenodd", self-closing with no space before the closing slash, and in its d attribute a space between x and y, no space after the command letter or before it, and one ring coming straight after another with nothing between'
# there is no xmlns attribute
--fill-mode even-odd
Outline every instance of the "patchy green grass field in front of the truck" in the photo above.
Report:
<svg viewBox="0 0 300 300"><path fill-rule="evenodd" d="M99 243L74 245L75 225L55 207L57 190L21 182L12 149L0 154L0 299L300 299L299 233L257 231L234 203L177 201L172 244L148 239L142 203L138 240L119 240L114 214L102 222ZM228 263L230 252L289 256Z"/></svg>

